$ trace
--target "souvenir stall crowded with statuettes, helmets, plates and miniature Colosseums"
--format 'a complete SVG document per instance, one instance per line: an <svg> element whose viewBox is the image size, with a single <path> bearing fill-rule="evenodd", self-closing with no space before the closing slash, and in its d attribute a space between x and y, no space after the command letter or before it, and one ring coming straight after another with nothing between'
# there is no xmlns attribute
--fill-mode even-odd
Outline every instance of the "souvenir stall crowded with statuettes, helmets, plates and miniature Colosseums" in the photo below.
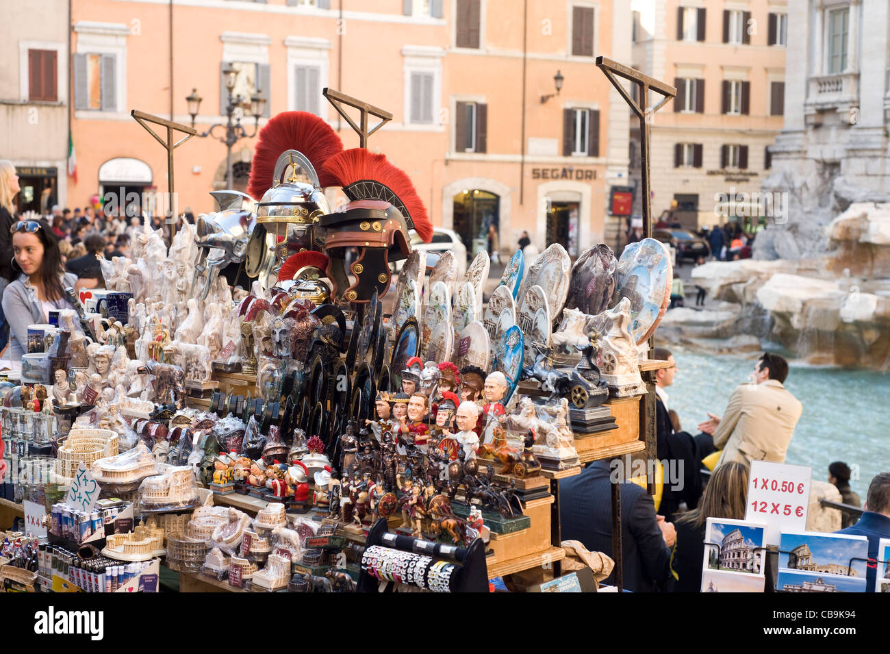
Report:
<svg viewBox="0 0 890 654"><path fill-rule="evenodd" d="M433 228L408 176L303 112L263 127L247 194L212 195L33 326L2 384L0 528L30 508L0 570L88 592L157 590L159 566L182 592L559 577L560 481L654 456L665 248L517 251L483 298L489 255L458 277L412 249Z"/></svg>

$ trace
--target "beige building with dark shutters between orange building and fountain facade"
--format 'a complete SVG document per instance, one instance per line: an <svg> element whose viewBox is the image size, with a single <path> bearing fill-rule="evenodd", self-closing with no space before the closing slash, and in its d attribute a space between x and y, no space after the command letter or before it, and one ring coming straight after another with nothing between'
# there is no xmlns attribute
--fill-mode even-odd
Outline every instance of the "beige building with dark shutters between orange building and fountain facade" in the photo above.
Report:
<svg viewBox="0 0 890 654"><path fill-rule="evenodd" d="M672 207L674 220L691 229L770 211L772 198L759 191L771 167L767 147L782 126L786 5L632 1L634 67L677 87L651 121L653 222ZM635 126L631 177L639 183Z"/></svg>

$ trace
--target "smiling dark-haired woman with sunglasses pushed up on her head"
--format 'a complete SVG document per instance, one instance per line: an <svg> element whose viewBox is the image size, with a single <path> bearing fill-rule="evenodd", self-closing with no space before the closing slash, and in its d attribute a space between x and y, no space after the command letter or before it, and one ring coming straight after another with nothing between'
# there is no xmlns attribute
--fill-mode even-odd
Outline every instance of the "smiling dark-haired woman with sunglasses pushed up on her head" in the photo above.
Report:
<svg viewBox="0 0 890 654"><path fill-rule="evenodd" d="M20 273L3 294L3 310L9 320L9 359L21 360L28 343L28 325L48 322L49 311L72 309L65 288L74 287L77 275L65 273L59 241L49 223L12 223L12 269ZM4 356L4 359L7 357Z"/></svg>

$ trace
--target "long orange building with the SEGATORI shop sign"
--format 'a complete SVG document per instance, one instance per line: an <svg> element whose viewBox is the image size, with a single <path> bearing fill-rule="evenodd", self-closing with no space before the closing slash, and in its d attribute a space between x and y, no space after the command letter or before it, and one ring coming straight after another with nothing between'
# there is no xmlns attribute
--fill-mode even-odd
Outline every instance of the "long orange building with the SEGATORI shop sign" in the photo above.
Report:
<svg viewBox="0 0 890 654"><path fill-rule="evenodd" d="M488 246L490 224L504 252L527 230L540 248L578 254L606 233L610 186L627 183L627 107L595 67L599 54L629 60L620 0L73 0L71 22L74 204L166 191L166 151L130 110L188 125L197 89L198 131L224 124L228 65L233 93L268 100L261 127L308 110L356 147L326 86L392 112L368 147L408 172L433 224L456 230L468 254ZM248 110L248 135L255 123ZM232 148L237 188L254 145ZM213 210L224 144L192 138L174 166L179 211Z"/></svg>

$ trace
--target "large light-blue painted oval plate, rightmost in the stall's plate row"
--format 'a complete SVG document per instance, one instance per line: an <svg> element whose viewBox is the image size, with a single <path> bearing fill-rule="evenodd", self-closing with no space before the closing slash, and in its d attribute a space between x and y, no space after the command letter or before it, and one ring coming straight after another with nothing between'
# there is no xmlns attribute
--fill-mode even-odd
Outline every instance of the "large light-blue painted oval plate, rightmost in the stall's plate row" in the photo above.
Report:
<svg viewBox="0 0 890 654"><path fill-rule="evenodd" d="M637 344L649 338L667 311L673 277L670 255L660 241L643 238L624 248L615 301L630 300L630 334Z"/></svg>

